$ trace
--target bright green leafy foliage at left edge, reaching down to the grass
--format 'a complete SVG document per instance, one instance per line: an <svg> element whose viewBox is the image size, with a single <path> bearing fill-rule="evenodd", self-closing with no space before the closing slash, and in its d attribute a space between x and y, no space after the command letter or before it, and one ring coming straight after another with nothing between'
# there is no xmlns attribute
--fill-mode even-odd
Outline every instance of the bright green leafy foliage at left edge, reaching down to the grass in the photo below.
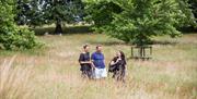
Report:
<svg viewBox="0 0 197 99"><path fill-rule="evenodd" d="M33 32L14 23L13 0L0 1L0 49L21 50L40 46Z"/></svg>

